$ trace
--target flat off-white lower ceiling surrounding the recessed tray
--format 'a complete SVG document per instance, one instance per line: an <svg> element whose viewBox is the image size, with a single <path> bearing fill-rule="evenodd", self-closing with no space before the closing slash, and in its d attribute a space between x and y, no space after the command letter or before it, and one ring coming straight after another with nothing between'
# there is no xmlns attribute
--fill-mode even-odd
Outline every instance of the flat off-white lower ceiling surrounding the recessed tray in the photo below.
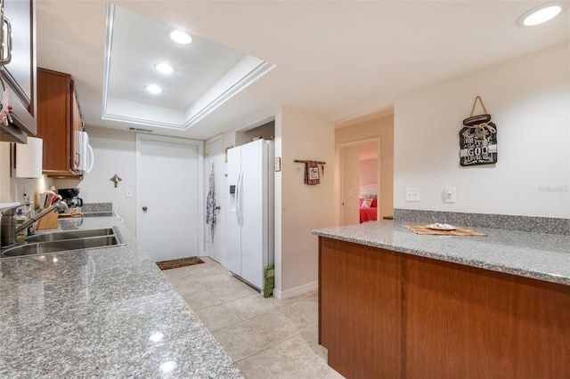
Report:
<svg viewBox="0 0 570 379"><path fill-rule="evenodd" d="M346 122L390 109L398 93L570 41L568 10L533 28L515 25L538 1L113 3L276 64L188 130L152 128L200 140L265 121L281 106ZM106 5L37 0L37 65L71 74L87 130L126 130L136 125L101 119Z"/></svg>

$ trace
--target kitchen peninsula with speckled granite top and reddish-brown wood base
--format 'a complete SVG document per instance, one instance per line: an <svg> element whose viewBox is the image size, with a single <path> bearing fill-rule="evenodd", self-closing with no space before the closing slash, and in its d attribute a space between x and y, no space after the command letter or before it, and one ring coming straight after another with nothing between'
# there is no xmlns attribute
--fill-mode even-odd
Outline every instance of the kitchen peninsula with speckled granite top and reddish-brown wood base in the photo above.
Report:
<svg viewBox="0 0 570 379"><path fill-rule="evenodd" d="M570 375L570 237L396 220L314 230L319 342L347 378Z"/></svg>

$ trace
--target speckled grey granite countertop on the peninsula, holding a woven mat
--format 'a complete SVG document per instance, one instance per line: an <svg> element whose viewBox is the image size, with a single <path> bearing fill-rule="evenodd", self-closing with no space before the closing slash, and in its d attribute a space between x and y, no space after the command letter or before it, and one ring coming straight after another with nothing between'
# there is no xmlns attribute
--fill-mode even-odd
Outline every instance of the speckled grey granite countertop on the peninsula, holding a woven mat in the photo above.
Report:
<svg viewBox="0 0 570 379"><path fill-rule="evenodd" d="M313 230L313 234L570 286L570 236L516 230L462 228L486 237L418 235L417 222L364 222Z"/></svg>

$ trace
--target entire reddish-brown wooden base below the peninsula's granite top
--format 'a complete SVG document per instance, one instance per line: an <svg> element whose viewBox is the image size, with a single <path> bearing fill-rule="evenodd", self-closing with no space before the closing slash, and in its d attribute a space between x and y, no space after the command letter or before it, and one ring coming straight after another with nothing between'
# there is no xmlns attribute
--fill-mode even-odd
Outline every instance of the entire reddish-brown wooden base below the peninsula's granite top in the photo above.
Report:
<svg viewBox="0 0 570 379"><path fill-rule="evenodd" d="M570 286L319 239L319 341L347 378L566 378Z"/></svg>

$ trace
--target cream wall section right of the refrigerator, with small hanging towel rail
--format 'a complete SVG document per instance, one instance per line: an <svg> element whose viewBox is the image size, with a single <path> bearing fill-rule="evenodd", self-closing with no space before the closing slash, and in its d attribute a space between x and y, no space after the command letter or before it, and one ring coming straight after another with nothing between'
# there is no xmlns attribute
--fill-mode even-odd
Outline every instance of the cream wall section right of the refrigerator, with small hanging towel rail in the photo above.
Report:
<svg viewBox="0 0 570 379"><path fill-rule="evenodd" d="M277 297L316 288L318 238L311 230L335 224L334 127L300 109L282 108L275 117L275 283ZM305 165L295 159L327 162L321 184L303 182Z"/></svg>

